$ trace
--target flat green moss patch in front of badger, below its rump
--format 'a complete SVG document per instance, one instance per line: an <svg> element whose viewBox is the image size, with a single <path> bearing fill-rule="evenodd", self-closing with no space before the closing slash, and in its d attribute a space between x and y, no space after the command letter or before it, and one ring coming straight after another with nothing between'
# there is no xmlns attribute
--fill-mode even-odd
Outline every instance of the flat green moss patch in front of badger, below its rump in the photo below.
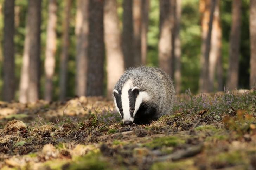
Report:
<svg viewBox="0 0 256 170"><path fill-rule="evenodd" d="M156 138L153 141L145 144L145 146L152 147L152 148L162 147L162 146L172 147L172 146L178 145L179 143L185 143L185 140L175 136L171 136L171 137Z"/></svg>

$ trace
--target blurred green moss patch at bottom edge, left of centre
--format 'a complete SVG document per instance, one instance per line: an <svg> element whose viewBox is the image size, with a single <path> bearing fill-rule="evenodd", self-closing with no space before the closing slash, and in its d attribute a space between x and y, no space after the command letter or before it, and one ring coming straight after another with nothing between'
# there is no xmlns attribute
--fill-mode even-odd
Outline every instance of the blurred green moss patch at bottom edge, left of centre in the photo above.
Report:
<svg viewBox="0 0 256 170"><path fill-rule="evenodd" d="M69 166L69 170L102 170L108 169L109 162L103 160L100 153L87 154L73 162Z"/></svg>

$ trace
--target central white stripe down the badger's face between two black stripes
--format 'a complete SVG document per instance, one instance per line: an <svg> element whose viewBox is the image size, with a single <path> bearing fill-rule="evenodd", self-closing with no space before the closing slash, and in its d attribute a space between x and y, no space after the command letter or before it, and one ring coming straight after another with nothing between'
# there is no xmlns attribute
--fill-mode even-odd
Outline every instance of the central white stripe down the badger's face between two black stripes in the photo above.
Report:
<svg viewBox="0 0 256 170"><path fill-rule="evenodd" d="M122 89L122 95L121 95L121 99L122 99L122 106L123 106L123 121L132 121L134 120L134 118L132 118L130 116L130 101L129 101L129 94L128 91L130 88L132 88L133 84L131 80L128 80Z"/></svg>

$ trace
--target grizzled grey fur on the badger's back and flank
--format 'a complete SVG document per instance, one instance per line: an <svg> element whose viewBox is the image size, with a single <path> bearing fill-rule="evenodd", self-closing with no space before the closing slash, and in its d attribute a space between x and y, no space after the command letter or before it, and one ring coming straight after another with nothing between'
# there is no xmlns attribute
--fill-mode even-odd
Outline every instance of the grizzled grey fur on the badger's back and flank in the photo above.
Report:
<svg viewBox="0 0 256 170"><path fill-rule="evenodd" d="M173 82L165 72L155 67L136 67L127 69L116 83L114 89L122 91L124 84L132 80L139 91L147 92L151 98L146 105L156 109L152 119L169 114L174 103Z"/></svg>

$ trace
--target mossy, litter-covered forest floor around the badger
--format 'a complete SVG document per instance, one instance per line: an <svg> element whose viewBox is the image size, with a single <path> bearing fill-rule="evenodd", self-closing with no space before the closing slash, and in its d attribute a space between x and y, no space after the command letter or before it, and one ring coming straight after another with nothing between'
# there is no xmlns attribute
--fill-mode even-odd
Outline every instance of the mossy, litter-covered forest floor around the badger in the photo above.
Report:
<svg viewBox="0 0 256 170"><path fill-rule="evenodd" d="M2 170L256 169L256 91L177 97L170 115L123 125L113 102L0 102Z"/></svg>

